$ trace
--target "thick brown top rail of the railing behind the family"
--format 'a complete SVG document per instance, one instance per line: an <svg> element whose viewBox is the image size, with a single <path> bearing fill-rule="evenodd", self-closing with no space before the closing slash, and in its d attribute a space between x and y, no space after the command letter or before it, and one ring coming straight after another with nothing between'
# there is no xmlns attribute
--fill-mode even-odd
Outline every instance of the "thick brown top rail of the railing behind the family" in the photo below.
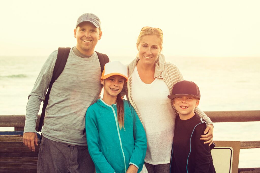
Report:
<svg viewBox="0 0 260 173"><path fill-rule="evenodd" d="M212 122L260 121L260 110L246 111L205 111ZM39 124L40 115L36 122ZM24 127L25 115L0 115L0 127Z"/></svg>

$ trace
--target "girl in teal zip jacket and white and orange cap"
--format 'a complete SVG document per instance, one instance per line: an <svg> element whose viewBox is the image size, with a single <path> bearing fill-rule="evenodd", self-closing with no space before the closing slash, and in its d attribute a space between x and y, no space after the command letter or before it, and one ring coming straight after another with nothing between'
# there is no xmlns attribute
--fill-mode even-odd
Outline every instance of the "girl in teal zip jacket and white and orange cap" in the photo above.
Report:
<svg viewBox="0 0 260 173"><path fill-rule="evenodd" d="M97 173L136 173L144 165L144 128L134 108L120 95L126 76L125 65L107 63L101 76L103 98L86 112L88 150Z"/></svg>

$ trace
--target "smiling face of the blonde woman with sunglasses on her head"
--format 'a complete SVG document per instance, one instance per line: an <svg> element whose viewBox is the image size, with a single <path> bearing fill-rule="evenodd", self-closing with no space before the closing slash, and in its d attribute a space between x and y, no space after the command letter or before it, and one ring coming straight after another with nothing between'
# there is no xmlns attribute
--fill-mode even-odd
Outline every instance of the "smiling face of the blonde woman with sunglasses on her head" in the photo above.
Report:
<svg viewBox="0 0 260 173"><path fill-rule="evenodd" d="M154 65L161 52L160 40L156 35L143 36L137 50L142 65Z"/></svg>

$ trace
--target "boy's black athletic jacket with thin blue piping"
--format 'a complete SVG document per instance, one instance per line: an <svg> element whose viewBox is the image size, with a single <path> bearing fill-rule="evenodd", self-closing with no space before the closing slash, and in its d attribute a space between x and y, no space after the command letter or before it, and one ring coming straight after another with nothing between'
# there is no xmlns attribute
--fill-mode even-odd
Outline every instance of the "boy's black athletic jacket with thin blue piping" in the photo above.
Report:
<svg viewBox="0 0 260 173"><path fill-rule="evenodd" d="M195 114L192 118L181 120L176 117L172 145L171 173L215 173L209 144L203 144L206 122Z"/></svg>

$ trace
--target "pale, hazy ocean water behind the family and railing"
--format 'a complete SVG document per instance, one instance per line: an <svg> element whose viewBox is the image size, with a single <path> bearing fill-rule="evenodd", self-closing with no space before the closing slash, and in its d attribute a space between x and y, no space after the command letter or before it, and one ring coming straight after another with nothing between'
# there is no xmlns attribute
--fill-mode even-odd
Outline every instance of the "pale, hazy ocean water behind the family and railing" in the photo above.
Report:
<svg viewBox="0 0 260 173"><path fill-rule="evenodd" d="M0 115L24 115L47 57L0 57ZM128 64L133 57L110 57ZM167 57L195 82L204 111L260 110L260 57ZM0 128L0 131L13 128ZM214 123L214 140L259 141L260 122ZM260 149L241 149L239 168L260 167Z"/></svg>

